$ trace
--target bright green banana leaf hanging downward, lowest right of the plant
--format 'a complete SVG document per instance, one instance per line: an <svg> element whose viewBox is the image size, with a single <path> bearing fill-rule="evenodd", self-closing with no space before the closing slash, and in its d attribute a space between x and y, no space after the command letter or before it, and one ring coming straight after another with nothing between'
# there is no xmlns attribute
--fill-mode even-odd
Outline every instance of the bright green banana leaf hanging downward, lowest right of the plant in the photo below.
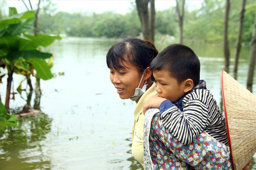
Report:
<svg viewBox="0 0 256 170"><path fill-rule="evenodd" d="M51 70L45 60L30 58L28 62L30 62L34 66L36 74L39 76L39 78L42 78L43 80L48 80L52 78Z"/></svg>

